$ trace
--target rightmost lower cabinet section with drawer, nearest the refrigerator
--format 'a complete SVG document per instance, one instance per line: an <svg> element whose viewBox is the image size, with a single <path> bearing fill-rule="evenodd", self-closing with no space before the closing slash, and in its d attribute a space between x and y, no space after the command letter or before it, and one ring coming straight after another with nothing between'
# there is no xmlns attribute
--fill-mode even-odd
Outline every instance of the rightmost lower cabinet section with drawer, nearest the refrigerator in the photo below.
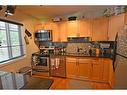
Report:
<svg viewBox="0 0 127 95"><path fill-rule="evenodd" d="M94 58L91 63L91 80L100 82L110 81L110 66L112 60L107 58Z"/></svg>

